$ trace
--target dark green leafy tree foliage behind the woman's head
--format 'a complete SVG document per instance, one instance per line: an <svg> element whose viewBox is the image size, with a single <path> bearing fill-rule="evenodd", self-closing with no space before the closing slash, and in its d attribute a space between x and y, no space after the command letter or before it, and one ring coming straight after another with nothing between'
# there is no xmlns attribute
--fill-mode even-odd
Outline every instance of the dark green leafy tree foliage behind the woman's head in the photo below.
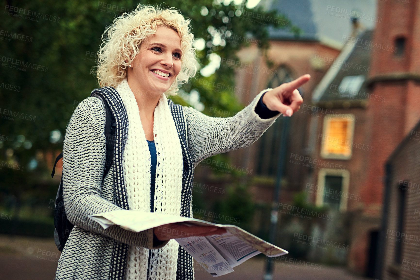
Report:
<svg viewBox="0 0 420 280"><path fill-rule="evenodd" d="M71 114L98 87L91 70L96 65L95 54L102 32L115 16L132 10L138 2L113 1L111 5L101 1L16 0L6 3L0 18L4 31L0 43L0 162L3 163L0 191L19 197L22 192L37 188L37 182L44 182L44 186L50 182L47 180L49 165L42 161L40 152L51 151L55 155L62 149ZM285 25L278 23L288 22L276 11L250 10L244 2L235 5L220 0L173 0L165 4L142 0L140 3L170 5L192 20L194 36L205 40L205 47L197 52L202 67L209 63L211 54L238 60L236 52L249 44L241 38L259 40L260 48L267 50L267 26L283 28ZM255 13L262 15L266 25L249 21ZM233 35L239 38L234 44L223 43ZM18 60L24 66L18 66ZM223 84L225 89L215 91L213 86L203 85L206 84L203 81ZM234 86L234 70L220 67L209 77L198 73L182 86L181 92L188 96L197 90L199 101L205 106L203 113L217 116L209 108L232 113L243 108L230 86ZM180 96L173 99L187 104ZM23 166L23 170L8 167L13 164ZM52 194L54 188L51 187Z"/></svg>

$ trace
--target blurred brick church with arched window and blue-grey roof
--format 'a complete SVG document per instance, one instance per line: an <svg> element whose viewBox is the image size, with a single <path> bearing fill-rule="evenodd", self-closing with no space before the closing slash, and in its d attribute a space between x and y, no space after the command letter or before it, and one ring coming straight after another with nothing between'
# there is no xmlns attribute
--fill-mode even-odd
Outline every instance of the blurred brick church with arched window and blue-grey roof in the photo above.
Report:
<svg viewBox="0 0 420 280"><path fill-rule="evenodd" d="M288 29L269 29L270 49L267 57L272 63L268 66L266 58L258 50L257 45L241 50L237 55L241 62L249 63L252 67L268 69L268 71L236 71L236 84L241 89L249 90L250 94L238 94L242 104L247 105L262 89L275 87L283 82L291 81L299 76L309 73L311 80L300 90L304 98L304 105L312 104L312 92L319 84L333 61L340 54L346 39L351 37L355 26L348 18L339 18L335 15L325 16L331 5L351 10L357 8L368 14L375 14L375 0L356 1L349 4L345 0L328 0L320 3L316 0L270 1L262 0L261 6L266 9L278 10L291 19L302 33L299 37ZM299 7L299 9L296 9ZM362 19L359 23L367 28L373 28L375 22ZM326 60L326 61L323 61ZM223 61L221 67L223 67ZM294 154L310 154L307 139L311 132L308 131L310 116L299 112L291 118L291 132L288 136L288 151ZM272 127L251 147L231 152L230 158L236 166L247 167L252 170L253 195L256 201L270 202L273 194L276 176L276 165L281 135L282 119L279 118ZM201 180L197 168L197 180ZM286 178L282 188L282 199L290 201L294 194L302 191L308 169L299 165L286 166ZM251 175L251 174L250 174ZM218 179L206 178L207 183L218 185ZM223 179L224 180L224 179ZM209 199L212 199L209 197ZM215 199L218 199L217 197Z"/></svg>

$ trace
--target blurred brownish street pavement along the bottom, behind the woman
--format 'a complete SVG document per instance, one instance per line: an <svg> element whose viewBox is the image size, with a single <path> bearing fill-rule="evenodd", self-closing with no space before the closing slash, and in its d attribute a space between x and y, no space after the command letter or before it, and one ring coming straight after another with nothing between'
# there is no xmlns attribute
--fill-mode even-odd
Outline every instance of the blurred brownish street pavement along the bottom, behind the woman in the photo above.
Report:
<svg viewBox="0 0 420 280"><path fill-rule="evenodd" d="M60 251L53 239L0 235L1 280L53 280ZM261 255L234 267L235 272L218 280L263 280L266 259ZM307 262L273 261L273 280L372 280L347 272L343 267L328 267ZM196 280L215 279L199 264L194 264Z"/></svg>

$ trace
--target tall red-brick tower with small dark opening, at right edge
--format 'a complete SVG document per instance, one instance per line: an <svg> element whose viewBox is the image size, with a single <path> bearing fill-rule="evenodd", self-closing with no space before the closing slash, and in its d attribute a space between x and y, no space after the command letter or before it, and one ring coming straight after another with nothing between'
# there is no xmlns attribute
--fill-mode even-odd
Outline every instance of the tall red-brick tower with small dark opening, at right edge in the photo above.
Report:
<svg viewBox="0 0 420 280"><path fill-rule="evenodd" d="M420 2L379 1L378 15L384 20L376 26L373 40L396 47L396 52L383 50L372 57L367 85L373 94L386 99L383 104L373 102L368 110L368 118L375 128L371 131L371 144L381 149L370 157L361 195L366 198L366 215L381 217L381 210L385 209L382 207L386 178L383 166L420 119ZM407 165L407 168L414 170L415 166Z"/></svg>

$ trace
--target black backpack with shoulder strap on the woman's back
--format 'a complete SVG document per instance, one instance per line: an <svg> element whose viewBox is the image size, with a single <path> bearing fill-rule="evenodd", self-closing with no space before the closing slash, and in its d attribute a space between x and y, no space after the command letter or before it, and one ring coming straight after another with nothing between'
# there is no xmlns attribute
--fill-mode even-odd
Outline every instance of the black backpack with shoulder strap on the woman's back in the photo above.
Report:
<svg viewBox="0 0 420 280"><path fill-rule="evenodd" d="M107 90L106 88L102 88ZM94 94L94 97L98 97L102 99L102 102L105 105L105 137L106 137L106 162L105 162L105 171L102 177L102 181L104 180L105 176L108 174L113 162L113 155L114 155L114 144L115 144L115 118L110 110L108 102L102 95ZM55 159L53 172L51 173L51 177L54 177L55 174L55 165L57 162L63 157L63 152L61 152L58 157ZM61 175L60 185L58 186L57 196L55 198L55 209L54 209L54 241L55 245L57 246L60 252L63 251L64 245L66 245L66 241L68 236L70 236L70 232L73 229L74 225L68 221L66 211L64 209L63 203L63 175Z"/></svg>

